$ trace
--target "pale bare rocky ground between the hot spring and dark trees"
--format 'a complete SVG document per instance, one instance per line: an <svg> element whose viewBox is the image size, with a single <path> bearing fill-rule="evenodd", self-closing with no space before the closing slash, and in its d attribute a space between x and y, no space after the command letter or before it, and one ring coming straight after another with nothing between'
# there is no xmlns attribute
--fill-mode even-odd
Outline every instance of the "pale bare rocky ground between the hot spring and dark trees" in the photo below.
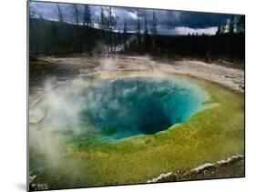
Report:
<svg viewBox="0 0 256 192"><path fill-rule="evenodd" d="M44 94L47 85L59 86L78 76L106 70L156 70L197 76L244 92L244 70L230 66L192 60L162 62L148 56L41 57L29 65L29 104Z"/></svg>

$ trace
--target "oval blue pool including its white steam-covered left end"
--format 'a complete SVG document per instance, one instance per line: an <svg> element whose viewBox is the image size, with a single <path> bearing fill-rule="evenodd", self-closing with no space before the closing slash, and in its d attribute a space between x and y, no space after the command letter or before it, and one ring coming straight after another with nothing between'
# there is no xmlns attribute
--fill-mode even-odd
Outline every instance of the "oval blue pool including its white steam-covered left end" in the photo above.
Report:
<svg viewBox="0 0 256 192"><path fill-rule="evenodd" d="M175 78L123 77L90 85L83 79L46 96L31 120L53 131L117 140L182 123L206 98L198 86Z"/></svg>

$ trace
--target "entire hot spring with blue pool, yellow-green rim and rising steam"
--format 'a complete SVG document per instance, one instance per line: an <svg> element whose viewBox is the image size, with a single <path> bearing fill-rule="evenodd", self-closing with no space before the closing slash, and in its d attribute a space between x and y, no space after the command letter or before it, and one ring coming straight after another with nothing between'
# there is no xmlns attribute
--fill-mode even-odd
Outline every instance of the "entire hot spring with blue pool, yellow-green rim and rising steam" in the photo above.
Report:
<svg viewBox="0 0 256 192"><path fill-rule="evenodd" d="M49 90L29 108L29 167L50 188L145 183L244 152L243 95L200 78L102 72Z"/></svg>

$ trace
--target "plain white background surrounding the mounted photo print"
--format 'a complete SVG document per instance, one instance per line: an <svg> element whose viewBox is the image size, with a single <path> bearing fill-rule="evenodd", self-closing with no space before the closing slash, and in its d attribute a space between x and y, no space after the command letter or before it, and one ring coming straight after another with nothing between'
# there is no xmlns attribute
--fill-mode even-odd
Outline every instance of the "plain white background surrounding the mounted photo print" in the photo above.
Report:
<svg viewBox="0 0 256 192"><path fill-rule="evenodd" d="M54 0L53 0L54 1ZM255 5L251 0L66 0L71 3L121 5L246 15L246 178L189 181L61 191L253 191L255 190ZM26 190L26 1L0 6L0 190Z"/></svg>

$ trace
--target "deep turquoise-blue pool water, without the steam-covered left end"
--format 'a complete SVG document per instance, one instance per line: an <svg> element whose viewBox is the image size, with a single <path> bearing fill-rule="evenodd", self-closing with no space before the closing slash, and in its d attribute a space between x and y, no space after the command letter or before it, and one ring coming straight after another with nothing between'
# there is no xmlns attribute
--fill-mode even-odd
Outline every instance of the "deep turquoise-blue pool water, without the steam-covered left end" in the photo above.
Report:
<svg viewBox="0 0 256 192"><path fill-rule="evenodd" d="M100 81L82 92L80 122L114 139L155 134L202 108L204 93L188 82L132 77Z"/></svg>

